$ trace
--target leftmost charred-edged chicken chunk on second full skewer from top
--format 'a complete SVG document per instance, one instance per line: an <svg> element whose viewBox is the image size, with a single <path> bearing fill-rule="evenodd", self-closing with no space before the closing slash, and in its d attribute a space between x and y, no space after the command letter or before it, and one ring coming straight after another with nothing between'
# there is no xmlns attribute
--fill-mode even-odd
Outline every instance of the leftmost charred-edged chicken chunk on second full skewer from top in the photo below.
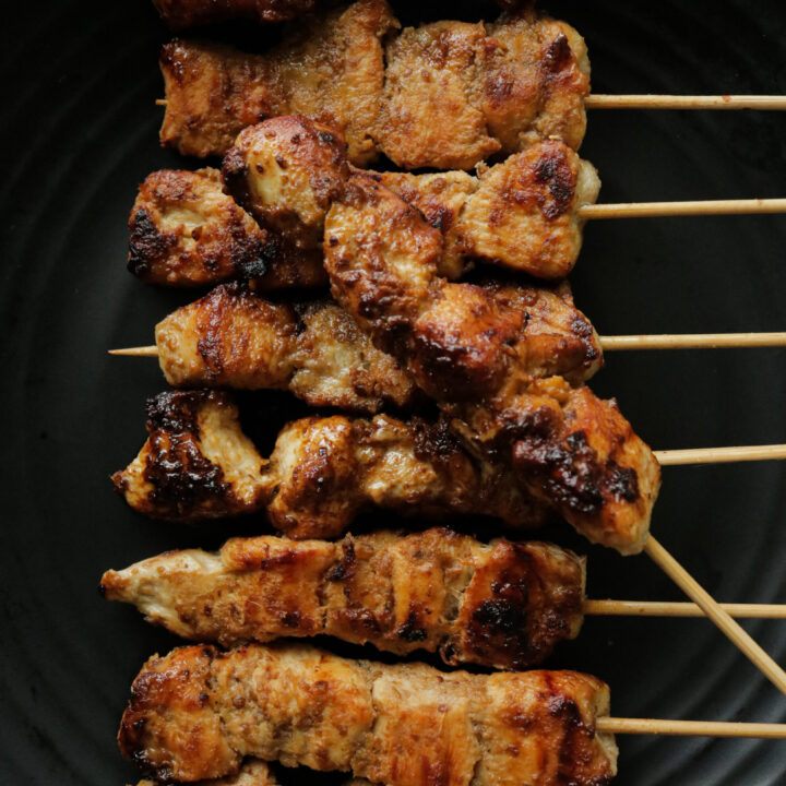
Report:
<svg viewBox="0 0 786 786"><path fill-rule="evenodd" d="M320 249L301 251L262 229L223 191L221 171L162 169L140 186L129 218L129 270L144 282L258 289L323 286Z"/></svg>

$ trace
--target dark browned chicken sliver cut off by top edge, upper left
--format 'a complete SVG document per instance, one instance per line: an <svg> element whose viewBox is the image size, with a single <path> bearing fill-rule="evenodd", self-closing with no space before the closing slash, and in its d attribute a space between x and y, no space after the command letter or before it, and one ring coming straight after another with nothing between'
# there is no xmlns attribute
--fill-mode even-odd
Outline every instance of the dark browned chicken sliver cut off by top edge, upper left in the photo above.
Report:
<svg viewBox="0 0 786 786"><path fill-rule="evenodd" d="M153 0L171 29L231 20L287 22L310 11L314 0Z"/></svg>

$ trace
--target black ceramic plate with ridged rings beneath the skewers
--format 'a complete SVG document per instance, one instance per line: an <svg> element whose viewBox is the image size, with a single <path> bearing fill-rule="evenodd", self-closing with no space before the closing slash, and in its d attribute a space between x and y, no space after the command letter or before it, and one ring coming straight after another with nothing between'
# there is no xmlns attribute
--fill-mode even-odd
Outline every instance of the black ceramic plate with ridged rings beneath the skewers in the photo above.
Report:
<svg viewBox="0 0 786 786"><path fill-rule="evenodd" d="M472 2L393 5L407 22L495 14ZM555 0L551 11L585 35L597 92L786 93L783 3ZM259 43L270 33L249 25L239 35ZM154 361L106 350L148 343L186 299L124 270L136 184L154 168L191 164L157 144L166 38L145 0L4 13L2 784L134 777L117 724L140 665L175 640L103 602L98 577L254 529L146 521L108 481L141 444L144 400L164 383ZM786 115L594 111L582 152L599 168L602 199L616 202L786 196L785 147ZM785 248L786 216L597 223L572 281L602 333L784 330ZM616 395L654 448L786 442L785 360L778 349L614 354L593 386ZM289 404L260 395L248 408L274 430ZM786 603L784 465L664 475L659 539L719 599ZM557 536L590 553L592 596L680 599L646 557ZM746 627L786 662L786 622ZM590 619L552 665L606 679L618 715L786 720L786 699L703 620ZM626 737L620 747L620 786L786 782L784 742ZM307 771L287 779L336 782Z"/></svg>

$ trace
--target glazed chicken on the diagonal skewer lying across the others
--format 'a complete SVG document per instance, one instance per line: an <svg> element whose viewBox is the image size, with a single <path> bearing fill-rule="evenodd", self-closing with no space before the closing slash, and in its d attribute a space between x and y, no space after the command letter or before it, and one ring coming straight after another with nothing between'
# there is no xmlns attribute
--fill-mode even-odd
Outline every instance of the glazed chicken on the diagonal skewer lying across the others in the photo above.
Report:
<svg viewBox="0 0 786 786"><path fill-rule="evenodd" d="M439 278L440 250L441 235L365 175L326 217L334 297L467 442L510 462L593 543L641 551L660 481L654 454L615 402L571 390L581 377L557 369L553 335L531 340L532 313L515 297Z"/></svg>

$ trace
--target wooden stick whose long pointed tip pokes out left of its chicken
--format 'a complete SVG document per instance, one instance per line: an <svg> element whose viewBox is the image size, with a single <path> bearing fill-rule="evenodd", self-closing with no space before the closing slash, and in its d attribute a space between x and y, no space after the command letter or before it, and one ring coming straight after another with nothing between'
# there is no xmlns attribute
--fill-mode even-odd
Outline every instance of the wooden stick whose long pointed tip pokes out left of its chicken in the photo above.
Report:
<svg viewBox="0 0 786 786"><path fill-rule="evenodd" d="M772 333L655 333L653 335L598 336L604 352L629 349L727 349L786 346L786 331ZM109 349L110 355L157 357L155 346Z"/></svg>

